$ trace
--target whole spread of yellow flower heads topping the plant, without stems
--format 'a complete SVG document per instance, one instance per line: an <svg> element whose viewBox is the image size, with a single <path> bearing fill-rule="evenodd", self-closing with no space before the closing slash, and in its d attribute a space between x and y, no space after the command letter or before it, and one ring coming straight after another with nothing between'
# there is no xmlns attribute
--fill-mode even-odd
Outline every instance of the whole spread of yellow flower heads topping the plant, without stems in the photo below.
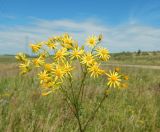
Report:
<svg viewBox="0 0 160 132"><path fill-rule="evenodd" d="M72 72L76 71L73 63L77 60L90 77L104 75L109 87L120 87L121 81L126 77L122 78L116 70L106 72L102 69L102 64L109 60L110 55L108 49L100 46L101 41L102 35L92 35L80 46L70 35L64 34L31 44L34 57L29 59L25 54L19 53L16 59L21 62L19 67L22 74L29 72L31 68L39 68L38 78L44 96L55 92L66 78L72 77Z"/></svg>

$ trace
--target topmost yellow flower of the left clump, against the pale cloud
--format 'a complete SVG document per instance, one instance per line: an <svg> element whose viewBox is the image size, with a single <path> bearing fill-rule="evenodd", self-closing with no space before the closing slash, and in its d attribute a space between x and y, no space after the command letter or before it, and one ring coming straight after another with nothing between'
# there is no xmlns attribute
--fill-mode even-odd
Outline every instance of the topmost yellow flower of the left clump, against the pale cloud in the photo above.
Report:
<svg viewBox="0 0 160 132"><path fill-rule="evenodd" d="M62 46L67 49L71 49L73 47L73 39L68 34L64 35L64 37L62 38L62 42Z"/></svg>

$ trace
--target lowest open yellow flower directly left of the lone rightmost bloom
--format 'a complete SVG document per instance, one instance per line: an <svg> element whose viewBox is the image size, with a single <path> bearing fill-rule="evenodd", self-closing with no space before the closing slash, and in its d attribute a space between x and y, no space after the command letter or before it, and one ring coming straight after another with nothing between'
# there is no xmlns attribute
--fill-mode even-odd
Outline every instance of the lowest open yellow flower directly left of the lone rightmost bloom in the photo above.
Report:
<svg viewBox="0 0 160 132"><path fill-rule="evenodd" d="M88 71L91 73L91 77L98 77L104 73L104 70L99 68L98 64L94 64L88 68Z"/></svg>

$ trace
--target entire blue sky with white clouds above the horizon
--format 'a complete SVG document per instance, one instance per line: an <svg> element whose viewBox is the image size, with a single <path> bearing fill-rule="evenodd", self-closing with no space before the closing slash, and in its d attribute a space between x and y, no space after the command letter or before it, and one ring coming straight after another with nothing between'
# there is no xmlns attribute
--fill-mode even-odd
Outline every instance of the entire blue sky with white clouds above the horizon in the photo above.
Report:
<svg viewBox="0 0 160 132"><path fill-rule="evenodd" d="M160 50L160 0L0 0L0 54L65 32L102 33L111 52Z"/></svg>

